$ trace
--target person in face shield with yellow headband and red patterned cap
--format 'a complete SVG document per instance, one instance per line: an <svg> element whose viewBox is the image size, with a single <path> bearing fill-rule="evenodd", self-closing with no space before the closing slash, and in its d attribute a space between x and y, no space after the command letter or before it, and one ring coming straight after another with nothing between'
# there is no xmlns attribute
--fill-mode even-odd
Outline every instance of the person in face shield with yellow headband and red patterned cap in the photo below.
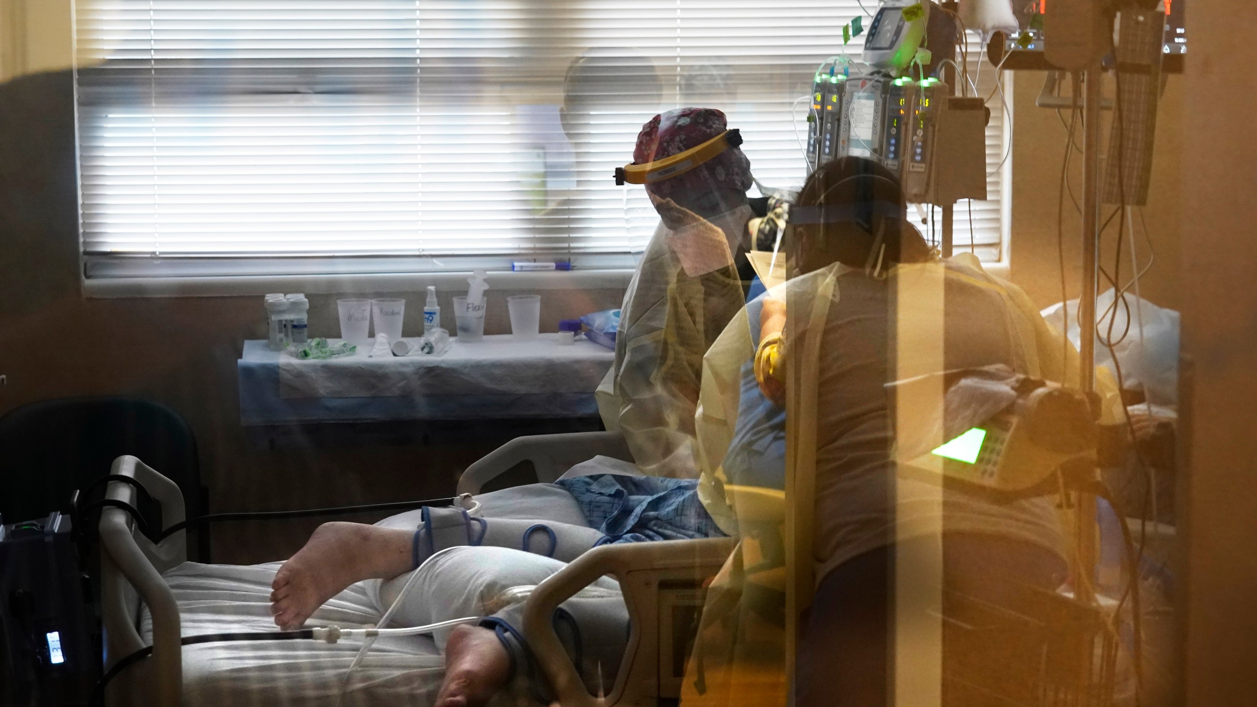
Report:
<svg viewBox="0 0 1257 707"><path fill-rule="evenodd" d="M642 126L623 174L645 184L660 225L625 293L598 408L650 476L698 476L694 410L703 355L742 308L753 277L745 259L753 181L738 145L720 111L669 111Z"/></svg>

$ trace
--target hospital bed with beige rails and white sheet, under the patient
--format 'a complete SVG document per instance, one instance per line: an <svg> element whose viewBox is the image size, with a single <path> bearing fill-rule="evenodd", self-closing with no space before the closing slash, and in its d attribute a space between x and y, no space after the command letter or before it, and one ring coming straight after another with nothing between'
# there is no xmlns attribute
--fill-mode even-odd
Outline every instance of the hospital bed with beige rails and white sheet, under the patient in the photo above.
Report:
<svg viewBox="0 0 1257 707"><path fill-rule="evenodd" d="M632 459L616 433L574 433L515 439L464 472L458 491L479 493L484 484L523 462L541 482L553 482L595 455ZM158 502L162 525L185 520L178 487L134 457L119 457L114 474L132 477ZM112 482L107 497L134 504L137 489ZM107 668L152 645L111 682L109 704L414 704L431 703L444 660L430 637L380 638L346 679L361 643L342 640L225 642L181 645L181 638L210 633L274 632L270 581L279 562L256 566L187 562L185 533L152 543L121 508L101 515L102 621ZM690 625L703 582L733 550L732 538L665 541L597 547L543 582L528 599L523 632L538 668L564 706L655 704L675 699L685 664ZM613 575L625 595L630 635L623 662L603 699L590 694L551 624L563 600L603 575ZM676 608L684 610L678 611ZM308 626L365 628L378 620L362 582L324 604ZM678 658L680 658L678 660ZM513 702L499 693L495 702Z"/></svg>

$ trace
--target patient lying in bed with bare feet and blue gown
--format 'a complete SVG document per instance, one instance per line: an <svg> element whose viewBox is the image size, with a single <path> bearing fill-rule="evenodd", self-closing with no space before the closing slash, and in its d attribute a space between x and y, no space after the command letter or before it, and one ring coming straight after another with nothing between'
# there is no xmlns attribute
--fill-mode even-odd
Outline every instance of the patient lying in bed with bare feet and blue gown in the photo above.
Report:
<svg viewBox="0 0 1257 707"><path fill-rule="evenodd" d="M422 625L484 615L480 625L434 635L446 662L436 704L484 704L513 676L525 679L529 671L519 635L522 605L505 604L499 595L513 586L539 584L597 545L724 535L699 503L696 483L598 474L530 487L551 496L547 517L574 522L534 522L518 515L479 518L451 507L424 508L376 526L324 523L275 574L272 613L277 625L295 629L346 587L385 580L366 585L383 614L417 569L420 576L393 623ZM490 515L493 496L481 497ZM579 517L571 512L573 502ZM566 619L558 623L558 633L588 687L596 692L600 682L610 684L627 635L618 585L600 580L564 603L559 614Z"/></svg>

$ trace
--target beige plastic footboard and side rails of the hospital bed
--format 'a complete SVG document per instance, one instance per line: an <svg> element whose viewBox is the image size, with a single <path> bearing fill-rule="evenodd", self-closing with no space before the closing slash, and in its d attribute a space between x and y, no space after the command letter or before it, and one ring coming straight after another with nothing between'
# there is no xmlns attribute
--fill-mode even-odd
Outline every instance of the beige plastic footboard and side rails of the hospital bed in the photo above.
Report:
<svg viewBox="0 0 1257 707"><path fill-rule="evenodd" d="M483 486L523 462L530 462L541 482L553 482L568 468L595 455L631 462L618 433L571 433L522 437L468 467L459 493L479 493ZM162 523L185 520L184 498L173 482L134 457L113 462L114 474L138 481L158 502ZM129 484L111 482L107 498L137 503ZM158 545L137 532L121 508L101 513L102 620L106 667L145 647L137 630L140 610L152 616L152 657L127 668L111 684L111 704L177 707L182 699L184 669L180 615L175 595L162 572L187 560L186 535L180 531ZM671 703L680 696L676 652L686 648L690 625L672 625L675 616L696 615L704 584L734 547L733 538L607 545L586 552L543 581L524 606L524 635L551 687L564 707L613 707ZM603 575L620 580L631 630L623 663L612 689L598 699L577 676L554 633L549 616L577 591ZM674 611L674 608L686 611ZM680 662L685 664L684 657Z"/></svg>

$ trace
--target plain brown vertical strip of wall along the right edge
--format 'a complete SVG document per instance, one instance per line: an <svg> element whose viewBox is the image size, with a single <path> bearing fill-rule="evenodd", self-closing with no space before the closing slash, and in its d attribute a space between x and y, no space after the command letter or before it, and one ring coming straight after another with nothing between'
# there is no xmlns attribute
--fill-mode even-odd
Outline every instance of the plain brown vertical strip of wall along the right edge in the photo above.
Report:
<svg viewBox="0 0 1257 707"><path fill-rule="evenodd" d="M1257 60L1243 29L1257 4L1192 5L1185 135L1219 136L1185 152L1183 203L1184 353L1194 385L1183 464L1188 520L1187 704L1251 704L1257 693L1257 145L1243 136L1257 114ZM1182 487L1180 487L1182 488Z"/></svg>

